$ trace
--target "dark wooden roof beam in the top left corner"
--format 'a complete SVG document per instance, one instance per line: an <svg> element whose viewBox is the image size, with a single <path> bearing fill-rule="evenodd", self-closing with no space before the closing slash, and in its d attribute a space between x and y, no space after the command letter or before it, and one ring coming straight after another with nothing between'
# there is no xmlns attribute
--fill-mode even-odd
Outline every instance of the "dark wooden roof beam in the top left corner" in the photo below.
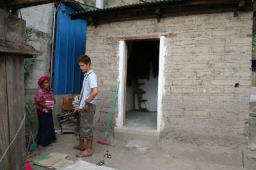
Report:
<svg viewBox="0 0 256 170"><path fill-rule="evenodd" d="M13 0L6 1L6 7L9 10L17 10L19 8L27 8L40 4L57 3L61 0Z"/></svg>

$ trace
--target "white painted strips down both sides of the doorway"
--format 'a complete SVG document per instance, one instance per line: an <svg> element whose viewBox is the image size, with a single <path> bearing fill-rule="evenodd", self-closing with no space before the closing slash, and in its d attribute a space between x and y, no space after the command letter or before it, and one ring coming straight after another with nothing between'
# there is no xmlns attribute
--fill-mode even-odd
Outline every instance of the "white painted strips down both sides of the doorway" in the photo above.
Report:
<svg viewBox="0 0 256 170"><path fill-rule="evenodd" d="M125 62L126 62L126 50L127 43L125 41L119 41L119 76L120 86L118 90L118 117L116 118L116 125L122 127L124 124L124 111L125 111ZM160 37L160 47L159 47L159 73L158 73L158 92L157 92L157 131L161 131L162 123L162 99L164 92L164 36Z"/></svg>

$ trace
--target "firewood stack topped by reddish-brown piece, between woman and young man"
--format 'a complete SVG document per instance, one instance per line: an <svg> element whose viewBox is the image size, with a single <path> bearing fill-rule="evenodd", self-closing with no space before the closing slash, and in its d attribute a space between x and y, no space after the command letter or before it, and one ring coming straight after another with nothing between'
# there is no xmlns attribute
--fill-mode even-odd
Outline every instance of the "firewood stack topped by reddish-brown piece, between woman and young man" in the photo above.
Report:
<svg viewBox="0 0 256 170"><path fill-rule="evenodd" d="M72 101L75 96L64 96L62 102L62 111L57 115L58 122L60 123L61 133L74 133L75 122L74 108L72 107Z"/></svg>

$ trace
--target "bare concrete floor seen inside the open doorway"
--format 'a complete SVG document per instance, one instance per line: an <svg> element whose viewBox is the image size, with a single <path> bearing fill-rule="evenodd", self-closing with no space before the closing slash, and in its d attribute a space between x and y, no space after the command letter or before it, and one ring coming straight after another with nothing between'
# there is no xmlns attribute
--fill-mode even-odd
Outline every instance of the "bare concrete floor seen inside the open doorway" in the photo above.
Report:
<svg viewBox="0 0 256 170"><path fill-rule="evenodd" d="M128 111L125 114L125 128L156 131L157 112Z"/></svg>

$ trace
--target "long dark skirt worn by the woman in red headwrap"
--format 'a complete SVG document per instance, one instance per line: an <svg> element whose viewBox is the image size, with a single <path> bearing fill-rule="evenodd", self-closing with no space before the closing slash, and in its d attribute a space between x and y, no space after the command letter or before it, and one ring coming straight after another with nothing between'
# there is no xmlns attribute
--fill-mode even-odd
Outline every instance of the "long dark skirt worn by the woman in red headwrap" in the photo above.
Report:
<svg viewBox="0 0 256 170"><path fill-rule="evenodd" d="M37 145L47 146L56 140L52 113L38 115Z"/></svg>

